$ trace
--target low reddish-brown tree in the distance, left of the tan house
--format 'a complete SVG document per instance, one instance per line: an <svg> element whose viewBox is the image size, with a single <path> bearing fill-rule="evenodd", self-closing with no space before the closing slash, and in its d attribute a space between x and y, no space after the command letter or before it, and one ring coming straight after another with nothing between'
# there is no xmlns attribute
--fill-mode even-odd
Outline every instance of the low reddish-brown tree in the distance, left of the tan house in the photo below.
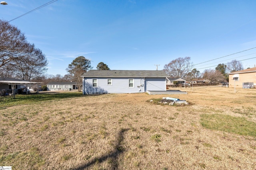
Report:
<svg viewBox="0 0 256 170"><path fill-rule="evenodd" d="M206 69L202 72L202 78L206 82L219 83L225 80L225 76L219 70Z"/></svg>

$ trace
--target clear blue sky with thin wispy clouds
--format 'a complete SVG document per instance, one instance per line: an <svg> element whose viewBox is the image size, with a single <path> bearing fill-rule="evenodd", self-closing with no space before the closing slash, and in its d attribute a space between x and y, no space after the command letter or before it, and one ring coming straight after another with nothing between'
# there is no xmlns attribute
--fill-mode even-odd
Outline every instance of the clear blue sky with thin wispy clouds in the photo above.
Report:
<svg viewBox="0 0 256 170"><path fill-rule="evenodd" d="M64 76L79 56L111 70L162 70L184 57L200 72L234 59L244 68L256 64L255 0L5 2L0 19L42 50L50 75Z"/></svg>

